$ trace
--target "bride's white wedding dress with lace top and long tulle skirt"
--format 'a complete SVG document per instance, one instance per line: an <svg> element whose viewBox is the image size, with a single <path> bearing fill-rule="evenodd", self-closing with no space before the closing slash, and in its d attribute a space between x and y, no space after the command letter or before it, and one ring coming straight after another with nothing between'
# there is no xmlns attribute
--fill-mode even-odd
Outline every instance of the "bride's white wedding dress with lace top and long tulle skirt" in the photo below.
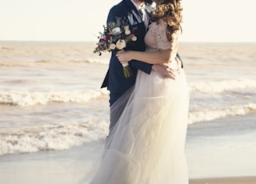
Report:
<svg viewBox="0 0 256 184"><path fill-rule="evenodd" d="M145 42L151 50L177 50L177 38L170 44L166 23L153 22ZM138 71L134 91L107 138L101 166L90 183L187 184L188 106L183 69L176 80L161 78L154 71L150 75Z"/></svg>

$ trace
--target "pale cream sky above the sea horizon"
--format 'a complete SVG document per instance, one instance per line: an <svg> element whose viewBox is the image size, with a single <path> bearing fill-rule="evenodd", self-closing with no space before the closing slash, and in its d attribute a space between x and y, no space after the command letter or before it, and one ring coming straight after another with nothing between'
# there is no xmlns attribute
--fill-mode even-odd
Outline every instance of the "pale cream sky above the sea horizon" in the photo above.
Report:
<svg viewBox="0 0 256 184"><path fill-rule="evenodd" d="M96 41L120 0L0 0L0 40ZM255 0L182 0L181 42L256 42Z"/></svg>

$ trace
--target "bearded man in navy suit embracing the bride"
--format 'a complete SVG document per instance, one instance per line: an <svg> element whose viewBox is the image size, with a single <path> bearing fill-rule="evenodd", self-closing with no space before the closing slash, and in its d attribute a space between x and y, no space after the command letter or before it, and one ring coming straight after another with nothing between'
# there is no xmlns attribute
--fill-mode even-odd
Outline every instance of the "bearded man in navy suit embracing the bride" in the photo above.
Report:
<svg viewBox="0 0 256 184"><path fill-rule="evenodd" d="M135 30L137 41L133 42L134 44L132 45L126 46L125 50L145 51L146 49L144 38L147 26L150 23L150 17L146 14L146 11L140 10L142 7L146 7L146 9L149 8L144 2L151 4L152 0L122 0L118 5L113 6L108 14L107 24L109 22L116 22L117 18L125 18L129 21L130 29ZM110 130L119 115L122 114L126 102L122 102L122 106L118 106L118 108L114 108L113 105L122 94L125 94L127 90L134 86L138 70L142 70L146 72L146 74L150 74L151 70L154 70L158 72L158 74L161 74L162 77L175 78L173 70L170 70L166 65L152 65L134 60L129 62L129 66L132 75L130 78L126 78L123 74L122 64L118 61L115 53L112 52L110 66L102 83L102 88L107 87L107 89L110 90ZM128 100L128 98L126 100ZM118 109L118 114L112 113L114 109Z"/></svg>

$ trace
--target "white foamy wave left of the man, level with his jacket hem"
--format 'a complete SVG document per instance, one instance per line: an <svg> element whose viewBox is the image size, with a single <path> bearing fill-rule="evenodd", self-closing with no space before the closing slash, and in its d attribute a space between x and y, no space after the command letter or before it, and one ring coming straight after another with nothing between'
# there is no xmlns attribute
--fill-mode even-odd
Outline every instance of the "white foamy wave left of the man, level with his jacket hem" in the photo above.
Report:
<svg viewBox="0 0 256 184"><path fill-rule="evenodd" d="M0 104L10 106L46 105L49 102L89 102L108 94L106 89L31 92L24 90L0 91Z"/></svg>

